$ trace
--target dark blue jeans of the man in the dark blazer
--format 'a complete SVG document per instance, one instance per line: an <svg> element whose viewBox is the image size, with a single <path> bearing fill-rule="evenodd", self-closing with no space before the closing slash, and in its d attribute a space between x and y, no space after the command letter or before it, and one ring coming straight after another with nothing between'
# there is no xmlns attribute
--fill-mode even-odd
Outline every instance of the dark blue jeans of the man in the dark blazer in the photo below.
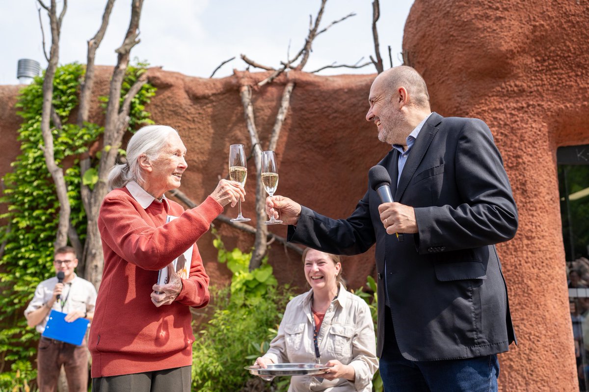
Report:
<svg viewBox="0 0 589 392"><path fill-rule="evenodd" d="M440 361L407 360L399 351L389 307L386 307L385 316L385 344L379 361L385 392L497 392L497 355Z"/></svg>

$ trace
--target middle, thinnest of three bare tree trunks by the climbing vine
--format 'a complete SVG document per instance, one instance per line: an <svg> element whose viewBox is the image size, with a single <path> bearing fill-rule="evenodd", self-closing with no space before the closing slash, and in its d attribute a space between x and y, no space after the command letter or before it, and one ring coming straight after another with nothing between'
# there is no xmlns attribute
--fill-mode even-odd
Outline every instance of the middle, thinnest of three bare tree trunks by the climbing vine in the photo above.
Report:
<svg viewBox="0 0 589 392"><path fill-rule="evenodd" d="M110 14L112 11L112 5L114 5L114 0L108 0L107 5L104 8L104 14L102 14L102 23L96 35L93 38L88 40L88 55L86 60L86 73L84 75L84 82L81 86L80 92L80 106L78 111L78 119L77 124L80 128L84 126L84 123L88 121L88 112L90 111L90 102L92 97L92 88L94 87L94 57L98 46L102 42L102 38L104 38L104 33L107 30L108 26L108 19L110 18ZM84 153L84 155L80 159L80 175L84 177L84 174L87 170L90 169L90 153ZM82 203L84 205L84 210L86 212L87 217L87 225L88 227L92 227L92 234L88 233L87 229L87 238L86 243L84 246L84 250L79 255L78 259L80 259L80 263L78 263L78 272L82 277L87 278L86 274L86 261L87 255L91 254L92 257L101 257L101 250L97 250L97 247L101 249L102 245L100 243L100 234L98 234L98 224L97 224L97 212L92 210L92 194L90 187L88 185L84 185L81 182L80 188L80 195L82 198ZM98 241L97 237L98 236ZM97 255L97 253L100 254ZM92 281L90 281L92 282ZM95 283L95 282L92 282Z"/></svg>

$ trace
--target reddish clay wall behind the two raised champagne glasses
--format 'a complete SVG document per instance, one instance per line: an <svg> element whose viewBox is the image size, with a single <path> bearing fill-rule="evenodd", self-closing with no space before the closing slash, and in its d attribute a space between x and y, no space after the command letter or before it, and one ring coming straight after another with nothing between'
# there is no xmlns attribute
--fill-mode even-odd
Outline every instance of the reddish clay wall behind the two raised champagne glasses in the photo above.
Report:
<svg viewBox="0 0 589 392"><path fill-rule="evenodd" d="M98 67L95 98L105 95L111 73L112 68ZM147 110L155 123L173 126L180 132L188 149L188 170L180 190L199 203L213 191L219 177L227 176L229 145L243 143L246 149L251 148L239 95L240 80L249 79L254 83L267 74L236 73L224 79L200 79L151 69L150 75L150 82L158 90ZM368 169L388 151L387 146L376 138L374 126L364 119L374 76L326 77L290 73L296 86L276 148L280 170L278 193L332 217L346 217L353 211L366 192ZM256 126L263 149L267 148L285 84L283 76L268 88L253 92ZM11 145L11 153L2 155L0 160L0 175L10 170L9 163L18 152L15 142L19 122L14 110L16 90L14 86L0 86L0 107L8 108L6 114L0 112L0 140ZM104 122L97 100L91 118L98 123ZM249 170L255 173L253 162ZM255 188L255 176L250 174L243 214L252 218ZM236 216L237 208L227 207L224 213ZM214 224L229 249L239 246L247 251L253 246L252 234L218 221ZM286 236L285 226L271 226L270 231ZM226 283L230 272L226 266L217 263L212 242L213 236L204 234L198 247L211 283ZM286 252L280 244L274 243L269 260L280 283L292 283L300 289L305 287L303 264L298 254ZM373 250L345 260L343 271L349 286L365 285L366 277L374 270Z"/></svg>

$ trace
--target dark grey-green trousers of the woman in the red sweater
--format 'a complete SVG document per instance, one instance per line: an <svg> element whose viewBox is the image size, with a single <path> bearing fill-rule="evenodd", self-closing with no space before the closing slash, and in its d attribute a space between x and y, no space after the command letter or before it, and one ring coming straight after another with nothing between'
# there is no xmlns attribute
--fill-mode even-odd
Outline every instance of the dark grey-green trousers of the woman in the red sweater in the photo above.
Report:
<svg viewBox="0 0 589 392"><path fill-rule="evenodd" d="M92 378L92 392L190 392L192 366Z"/></svg>

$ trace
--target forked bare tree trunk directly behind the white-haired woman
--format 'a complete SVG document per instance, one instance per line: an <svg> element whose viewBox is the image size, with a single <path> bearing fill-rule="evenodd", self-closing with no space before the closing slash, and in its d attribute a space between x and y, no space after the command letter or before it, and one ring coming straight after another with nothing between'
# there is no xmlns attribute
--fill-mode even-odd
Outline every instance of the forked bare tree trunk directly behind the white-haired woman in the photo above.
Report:
<svg viewBox="0 0 589 392"><path fill-rule="evenodd" d="M84 246L84 264L86 279L100 286L102 280L102 268L104 266L104 255L102 254L102 245L100 242L100 233L98 232L98 210L102 199L108 193L107 177L111 167L114 166L117 159L118 148L121 146L123 135L127 129L129 121L129 110L131 99L140 91L141 87L147 82L147 73L140 76L137 82L131 86L127 95L120 105L121 85L125 76L125 71L129 63L130 52L133 46L139 43L138 28L141 17L141 8L143 0L133 0L131 5L131 21L127 29L127 35L123 45L116 50L118 53L117 65L112 72L110 83L110 93L108 95L107 113L104 126L103 148L100 156L98 167L98 182L90 195L90 205L86 210L88 217L88 227L86 243Z"/></svg>

